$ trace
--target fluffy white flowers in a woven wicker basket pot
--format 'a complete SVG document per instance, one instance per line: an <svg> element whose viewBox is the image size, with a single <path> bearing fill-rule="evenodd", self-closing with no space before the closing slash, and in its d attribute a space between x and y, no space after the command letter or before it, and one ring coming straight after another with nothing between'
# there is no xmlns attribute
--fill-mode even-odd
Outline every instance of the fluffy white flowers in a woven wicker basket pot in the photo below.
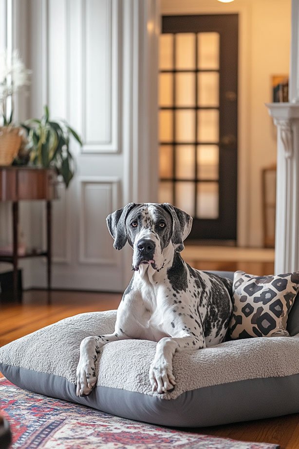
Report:
<svg viewBox="0 0 299 449"><path fill-rule="evenodd" d="M22 142L22 129L13 124L14 95L30 84L30 74L18 50L13 51L12 58L7 51L0 53L0 165L12 163Z"/></svg>

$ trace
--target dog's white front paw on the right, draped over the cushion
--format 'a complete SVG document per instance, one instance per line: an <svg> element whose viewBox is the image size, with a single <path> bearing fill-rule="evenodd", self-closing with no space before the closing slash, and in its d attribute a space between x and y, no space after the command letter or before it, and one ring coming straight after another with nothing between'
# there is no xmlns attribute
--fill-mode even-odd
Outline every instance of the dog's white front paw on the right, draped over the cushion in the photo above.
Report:
<svg viewBox="0 0 299 449"><path fill-rule="evenodd" d="M176 385L172 366L167 362L156 362L154 360L150 365L149 375L151 391L157 391L158 393L170 392Z"/></svg>

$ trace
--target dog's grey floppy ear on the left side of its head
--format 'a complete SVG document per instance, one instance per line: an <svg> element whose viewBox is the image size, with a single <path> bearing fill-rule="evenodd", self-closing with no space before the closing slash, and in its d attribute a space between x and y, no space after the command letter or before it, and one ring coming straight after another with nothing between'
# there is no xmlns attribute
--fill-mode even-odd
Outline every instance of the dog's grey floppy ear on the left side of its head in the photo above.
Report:
<svg viewBox="0 0 299 449"><path fill-rule="evenodd" d="M106 218L109 232L114 238L113 247L116 250L121 250L127 242L126 218L135 206L135 203L129 203Z"/></svg>

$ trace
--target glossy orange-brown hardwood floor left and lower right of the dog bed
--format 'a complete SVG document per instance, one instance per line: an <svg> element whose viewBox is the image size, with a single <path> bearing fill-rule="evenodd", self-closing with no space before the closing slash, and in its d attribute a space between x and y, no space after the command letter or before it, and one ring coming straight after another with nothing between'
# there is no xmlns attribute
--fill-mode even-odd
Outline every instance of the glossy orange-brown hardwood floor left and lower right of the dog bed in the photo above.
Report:
<svg viewBox="0 0 299 449"><path fill-rule="evenodd" d="M121 300L120 293L53 291L49 294L50 305L47 304L48 292L43 290L24 292L22 304L0 302L0 346L77 313L116 309ZM299 449L299 414L182 430L243 441L275 443L280 444L281 449Z"/></svg>

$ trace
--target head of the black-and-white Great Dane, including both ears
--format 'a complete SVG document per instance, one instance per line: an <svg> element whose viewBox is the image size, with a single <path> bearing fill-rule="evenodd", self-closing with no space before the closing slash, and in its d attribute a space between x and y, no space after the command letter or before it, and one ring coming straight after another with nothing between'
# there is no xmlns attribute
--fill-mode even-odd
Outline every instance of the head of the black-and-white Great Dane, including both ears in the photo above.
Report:
<svg viewBox="0 0 299 449"><path fill-rule="evenodd" d="M184 249L192 218L169 203L129 203L107 217L114 248L126 242L133 248L133 269L148 264L155 270L164 266L163 251L172 244L176 252Z"/></svg>

